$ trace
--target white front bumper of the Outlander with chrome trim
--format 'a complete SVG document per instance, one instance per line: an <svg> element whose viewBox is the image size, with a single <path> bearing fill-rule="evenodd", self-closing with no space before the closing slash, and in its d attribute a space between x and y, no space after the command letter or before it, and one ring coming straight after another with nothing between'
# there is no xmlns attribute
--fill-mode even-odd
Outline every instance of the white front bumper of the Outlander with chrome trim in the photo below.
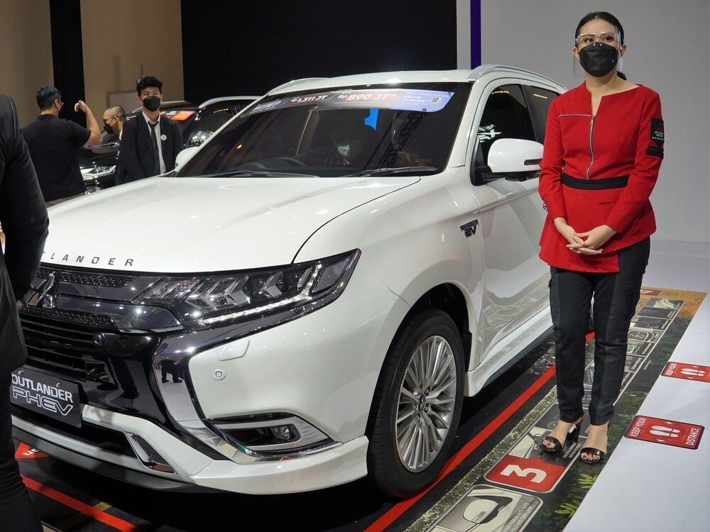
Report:
<svg viewBox="0 0 710 532"><path fill-rule="evenodd" d="M174 356L171 345L182 348L182 382L163 382L152 365L138 397L115 389L100 403L83 404L82 428L42 423L15 407L15 434L62 460L158 489L277 494L351 482L366 475L373 389L407 311L361 260L341 297L311 314L202 351L190 350L190 335L160 344L154 360ZM164 405L168 426L140 415L148 401ZM264 455L214 431L225 420L272 413L310 423L327 444ZM104 445L100 432L85 437L94 429L124 445Z"/></svg>

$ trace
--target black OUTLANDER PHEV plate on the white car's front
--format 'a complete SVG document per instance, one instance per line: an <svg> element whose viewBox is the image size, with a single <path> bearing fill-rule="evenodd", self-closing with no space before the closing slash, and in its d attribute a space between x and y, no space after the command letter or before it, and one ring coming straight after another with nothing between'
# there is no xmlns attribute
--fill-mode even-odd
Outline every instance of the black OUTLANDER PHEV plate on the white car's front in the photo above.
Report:
<svg viewBox="0 0 710 532"><path fill-rule="evenodd" d="M13 371L11 378L12 404L76 427L82 426L79 384L26 367Z"/></svg>

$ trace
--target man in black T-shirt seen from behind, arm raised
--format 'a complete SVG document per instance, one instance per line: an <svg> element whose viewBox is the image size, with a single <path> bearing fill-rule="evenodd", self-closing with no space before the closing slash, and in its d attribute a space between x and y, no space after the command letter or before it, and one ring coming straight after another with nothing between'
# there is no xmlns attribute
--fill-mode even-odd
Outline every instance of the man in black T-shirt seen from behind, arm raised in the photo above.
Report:
<svg viewBox="0 0 710 532"><path fill-rule="evenodd" d="M37 171L40 188L47 206L86 193L79 167L78 148L101 143L101 128L86 102L79 100L74 111L87 116L87 128L59 118L62 94L57 87L45 85L36 94L40 116L22 130Z"/></svg>

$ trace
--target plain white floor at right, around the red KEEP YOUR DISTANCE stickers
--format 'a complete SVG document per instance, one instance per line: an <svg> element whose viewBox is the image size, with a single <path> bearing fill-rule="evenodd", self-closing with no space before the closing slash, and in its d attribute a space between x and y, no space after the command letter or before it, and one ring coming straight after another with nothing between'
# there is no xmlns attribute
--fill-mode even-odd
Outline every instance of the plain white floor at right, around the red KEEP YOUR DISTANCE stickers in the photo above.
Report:
<svg viewBox="0 0 710 532"><path fill-rule="evenodd" d="M707 244L651 240L643 285L709 292L709 249ZM709 297L670 362L710 366ZM621 438L564 532L710 530L710 382L661 375L638 416L704 427L699 446Z"/></svg>

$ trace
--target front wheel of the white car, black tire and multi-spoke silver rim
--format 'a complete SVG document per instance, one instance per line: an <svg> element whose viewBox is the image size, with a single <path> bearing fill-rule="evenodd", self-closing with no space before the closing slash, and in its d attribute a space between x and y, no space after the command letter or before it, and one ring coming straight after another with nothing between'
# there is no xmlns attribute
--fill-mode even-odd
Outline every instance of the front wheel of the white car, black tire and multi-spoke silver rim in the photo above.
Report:
<svg viewBox="0 0 710 532"><path fill-rule="evenodd" d="M463 378L461 336L448 314L427 309L400 327L368 419L368 476L378 491L401 499L436 478L459 426Z"/></svg>

